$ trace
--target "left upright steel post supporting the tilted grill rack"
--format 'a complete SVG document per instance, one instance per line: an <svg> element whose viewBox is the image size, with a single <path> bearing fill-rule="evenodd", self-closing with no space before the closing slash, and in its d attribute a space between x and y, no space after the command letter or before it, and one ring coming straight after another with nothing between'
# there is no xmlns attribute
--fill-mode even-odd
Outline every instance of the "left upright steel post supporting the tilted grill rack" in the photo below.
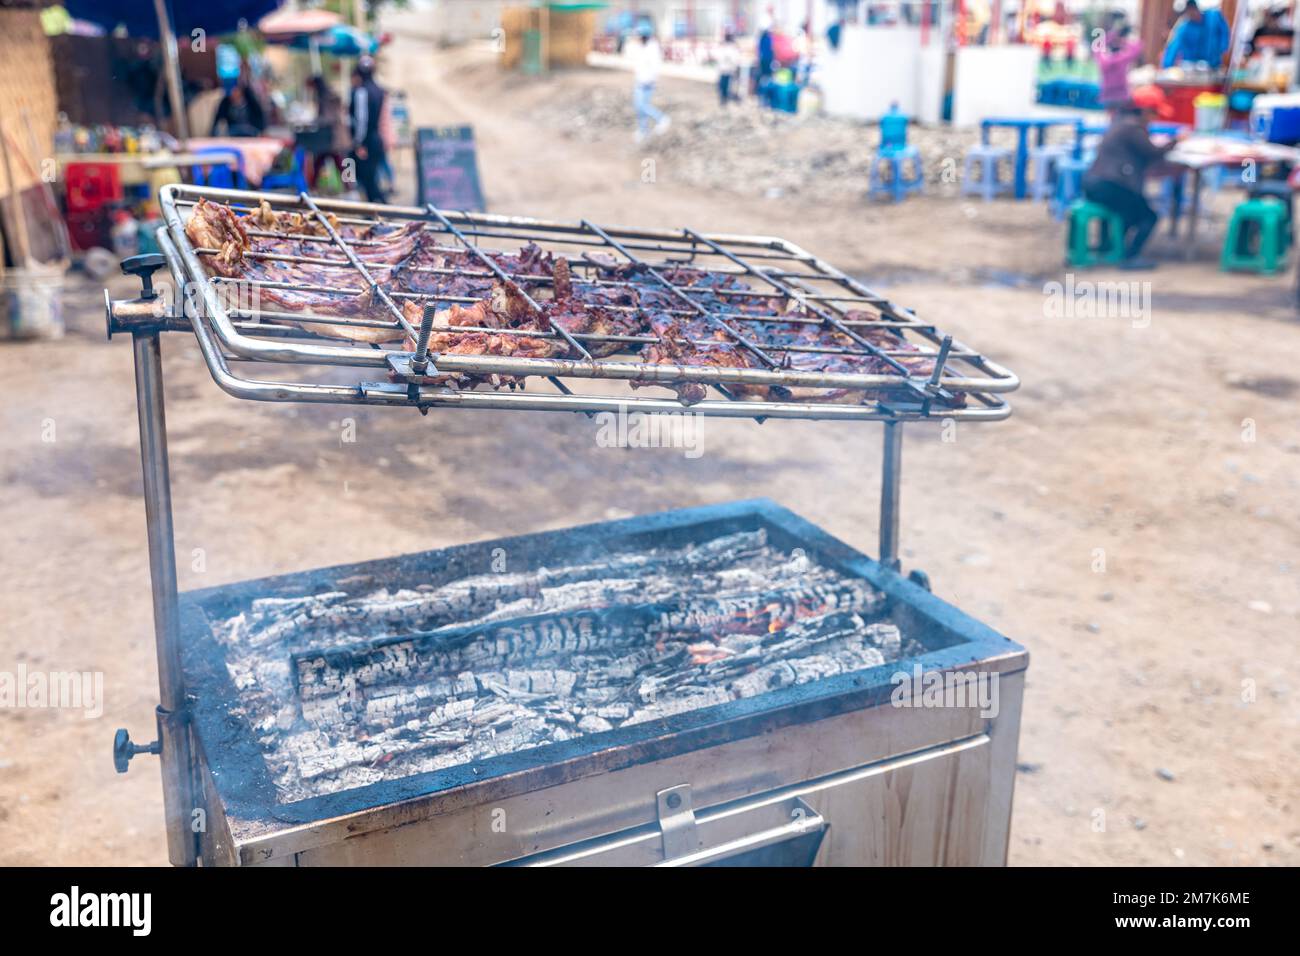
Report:
<svg viewBox="0 0 1300 956"><path fill-rule="evenodd" d="M159 662L159 734L162 750L162 808L168 857L177 866L198 862L198 840L190 826L195 809L188 708L181 670L181 609L176 583L176 537L172 525L172 477L162 406L162 351L159 333L131 336L135 352L135 406L140 420L140 467L144 476L144 522L150 542L153 593L153 640Z"/></svg>

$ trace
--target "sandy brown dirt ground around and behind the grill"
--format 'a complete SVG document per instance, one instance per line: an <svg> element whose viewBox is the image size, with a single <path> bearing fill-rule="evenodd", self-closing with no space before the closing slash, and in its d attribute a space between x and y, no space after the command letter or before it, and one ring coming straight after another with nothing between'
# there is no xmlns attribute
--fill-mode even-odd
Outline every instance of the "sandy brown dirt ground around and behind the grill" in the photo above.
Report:
<svg viewBox="0 0 1300 956"><path fill-rule="evenodd" d="M419 124L474 124L493 211L779 234L1020 376L1005 423L909 429L902 506L905 566L1031 652L1013 864L1300 862L1291 277L1219 273L1218 221L1141 277L1149 324L1053 317L1041 204L703 190L680 146L567 135L555 104L625 74L525 81L400 36L386 57ZM116 727L151 739L157 685L131 354L100 295L73 285L65 339L0 346L0 671L105 675L98 719L0 710L0 864L165 860L156 766L109 760ZM692 460L598 447L580 416L240 403L192 339L164 349L182 588L753 496L876 550L875 427L710 420Z"/></svg>

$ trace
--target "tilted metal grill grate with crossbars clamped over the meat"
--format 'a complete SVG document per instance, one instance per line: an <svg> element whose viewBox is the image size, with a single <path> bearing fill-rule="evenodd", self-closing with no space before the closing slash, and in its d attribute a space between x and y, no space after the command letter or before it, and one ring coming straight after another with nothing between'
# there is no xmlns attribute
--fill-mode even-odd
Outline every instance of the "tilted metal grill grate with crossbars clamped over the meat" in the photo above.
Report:
<svg viewBox="0 0 1300 956"><path fill-rule="evenodd" d="M255 212L266 202L276 212L298 213L321 234L286 234L250 229L257 239L291 239L302 255L260 251L251 260L316 267L328 282L280 282L268 278L224 278L209 274L205 263L218 250L194 247L185 224L199 199L226 203L235 212ZM486 407L555 411L689 411L727 418L797 418L841 420L998 420L1010 414L1000 398L1019 380L978 351L922 323L828 263L783 239L746 235L705 235L690 229L653 232L614 229L582 220L577 224L514 219L481 213L441 211L432 206L390 207L367 203L317 200L302 194L263 194L192 186L168 186L161 191L168 229L161 233L186 315L194 325L204 358L216 381L231 394L260 401L407 405L415 407ZM448 291L411 291L402 284L377 278L389 264L367 261L365 255L382 241L356 237L368 226L403 226L419 222L419 241L432 250L456 254L469 268L439 268L403 264L407 274L437 287L450 289L464 280L499 282L512 287L541 312L529 290L546 290L551 276L511 272L497 254L516 254L533 243L554 256L563 256L573 272L575 286L593 290L637 287L662 290L670 304L654 312L668 319L697 319L715 332L707 341L677 338L670 345L716 347L720 343L744 351L748 367L653 364L637 355L645 346L666 345L656 330L634 334L568 332L549 319L547 330L514 330L456 326L460 333L528 336L563 339L562 358L512 355L467 355L430 352L416 355L420 339L416 324L403 315L402 304L438 307L472 304L484 295ZM342 232L341 232L342 230ZM347 232L348 235L344 235ZM281 243L283 245L283 243ZM621 267L621 269L619 268ZM686 267L686 268L682 268ZM637 282L625 278L634 269ZM697 271L702 271L697 272ZM337 278L335 278L337 274ZM701 274L705 281L701 282ZM718 277L744 284L716 287ZM252 290L254 303L225 294L224 286ZM317 315L311 311L263 308L261 290L311 293L342 299L368 297L363 315ZM776 308L768 308L777 303ZM636 312L640 304L603 306ZM792 311L786 311L790 308ZM360 311L360 310L359 310ZM797 342L764 341L764 324L783 328L809 326L811 337ZM365 345L313 333L333 325L343 329L390 333L400 342ZM868 337L870 336L870 337ZM592 351L614 355L593 358ZM806 355L870 359L872 373L828 372L790 368L792 359ZM428 360L420 369L419 359ZM905 364L907 363L907 364ZM244 369L257 368L256 376ZM359 369L344 372L342 369ZM238 371L235 371L238 369ZM382 372L382 375L377 375ZM348 380L354 375L354 380ZM452 388L447 375L508 376L524 388ZM633 392L630 382L671 388L686 382L707 386L712 395L684 406L671 392ZM767 401L749 401L737 386L767 389ZM784 401L790 390L801 399ZM811 392L810 392L811 390ZM837 390L838 401L807 401L816 390ZM664 397L667 395L667 397ZM848 401L845 401L848 397Z"/></svg>

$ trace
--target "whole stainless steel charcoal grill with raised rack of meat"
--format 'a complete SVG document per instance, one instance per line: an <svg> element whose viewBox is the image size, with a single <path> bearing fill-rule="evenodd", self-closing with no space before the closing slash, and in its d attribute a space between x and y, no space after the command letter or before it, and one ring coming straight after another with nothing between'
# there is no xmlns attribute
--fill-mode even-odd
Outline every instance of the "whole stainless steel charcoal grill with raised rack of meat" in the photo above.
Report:
<svg viewBox="0 0 1300 956"><path fill-rule="evenodd" d="M114 760L161 757L172 862L1005 862L1027 654L901 575L898 490L904 424L1004 419L1014 375L781 239L161 202L105 306L161 697ZM214 204L234 247L187 232ZM879 421L880 557L749 501L179 596L176 330L254 401Z"/></svg>

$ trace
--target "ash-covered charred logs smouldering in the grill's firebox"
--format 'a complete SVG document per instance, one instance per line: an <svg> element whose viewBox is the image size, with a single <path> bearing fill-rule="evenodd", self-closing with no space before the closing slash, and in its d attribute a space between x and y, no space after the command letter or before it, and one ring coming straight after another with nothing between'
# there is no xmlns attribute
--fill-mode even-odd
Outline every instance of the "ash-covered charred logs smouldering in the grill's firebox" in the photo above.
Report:
<svg viewBox="0 0 1300 956"><path fill-rule="evenodd" d="M911 650L887 610L867 581L758 531L263 598L213 633L287 801L874 667Z"/></svg>

